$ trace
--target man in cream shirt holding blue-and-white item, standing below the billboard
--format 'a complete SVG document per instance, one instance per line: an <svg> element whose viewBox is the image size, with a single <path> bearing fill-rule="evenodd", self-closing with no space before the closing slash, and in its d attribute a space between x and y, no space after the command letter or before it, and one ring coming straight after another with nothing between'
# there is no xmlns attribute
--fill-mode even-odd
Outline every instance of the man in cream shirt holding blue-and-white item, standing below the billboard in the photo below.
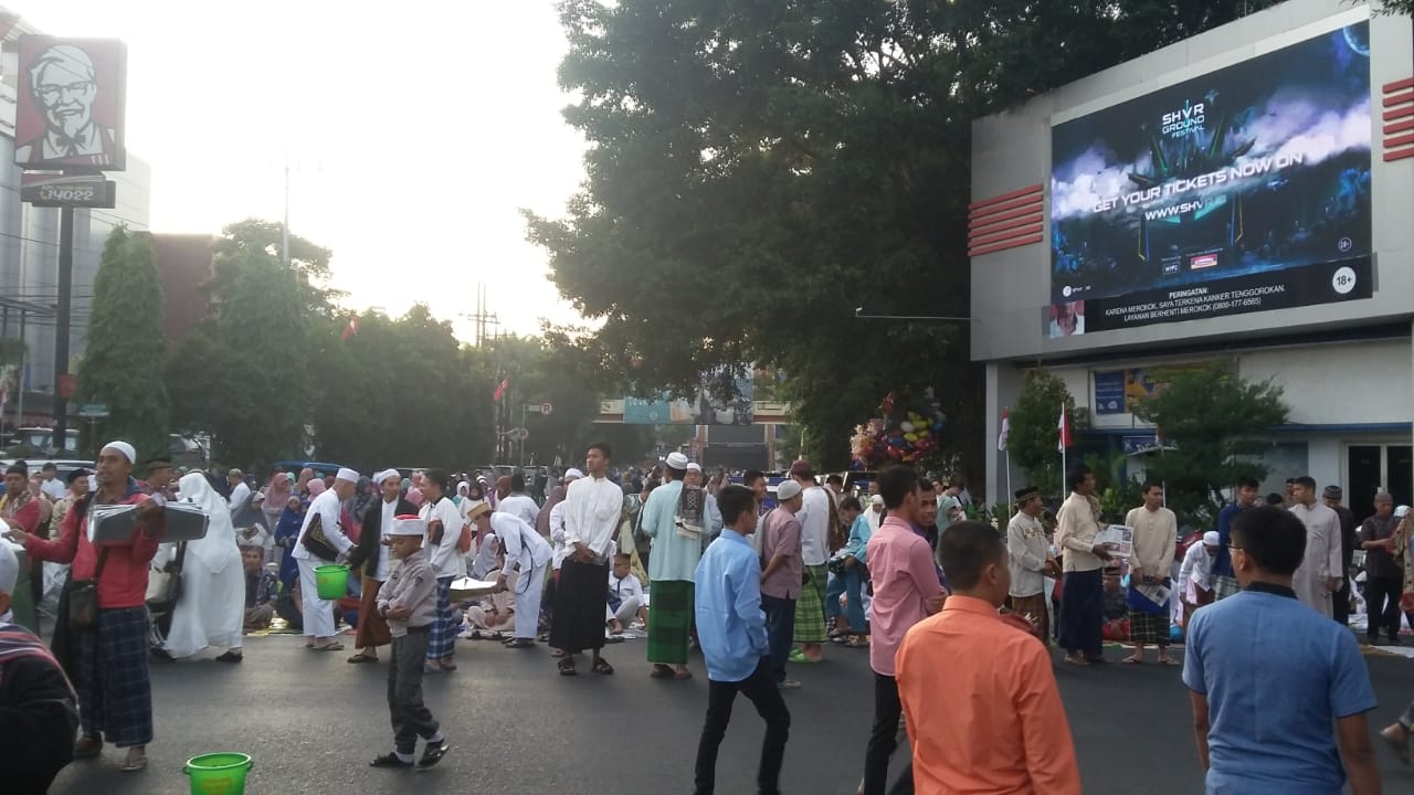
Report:
<svg viewBox="0 0 1414 795"><path fill-rule="evenodd" d="M1134 654L1126 662L1144 662L1144 646L1158 646L1159 665L1178 665L1168 656L1168 625L1171 618L1169 593L1174 573L1174 550L1178 542L1178 516L1164 508L1164 484L1144 484L1144 505L1124 516L1124 525L1134 528L1134 550L1130 553L1130 639ZM1161 598L1162 597L1162 598Z"/></svg>

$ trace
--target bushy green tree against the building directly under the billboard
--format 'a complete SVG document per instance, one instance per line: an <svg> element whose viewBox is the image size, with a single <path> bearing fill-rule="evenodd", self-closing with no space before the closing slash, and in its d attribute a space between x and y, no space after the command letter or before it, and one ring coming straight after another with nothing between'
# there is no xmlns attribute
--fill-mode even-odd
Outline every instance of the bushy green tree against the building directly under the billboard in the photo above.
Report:
<svg viewBox="0 0 1414 795"><path fill-rule="evenodd" d="M1209 526L1222 508L1222 489L1241 475L1261 480L1256 457L1271 443L1261 434L1284 424L1288 407L1271 381L1247 382L1227 362L1181 372L1161 392L1134 406L1154 423L1165 450L1147 461L1148 475L1167 485L1168 506L1192 526Z"/></svg>

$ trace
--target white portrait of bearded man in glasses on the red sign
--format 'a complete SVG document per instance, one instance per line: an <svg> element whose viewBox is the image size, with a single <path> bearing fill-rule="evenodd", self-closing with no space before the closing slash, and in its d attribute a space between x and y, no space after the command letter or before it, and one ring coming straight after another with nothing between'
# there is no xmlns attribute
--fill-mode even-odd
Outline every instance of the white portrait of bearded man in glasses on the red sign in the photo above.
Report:
<svg viewBox="0 0 1414 795"><path fill-rule="evenodd" d="M57 44L28 64L27 76L44 133L16 150L16 163L28 168L113 166L113 130L93 120L98 74L89 54L72 44Z"/></svg>

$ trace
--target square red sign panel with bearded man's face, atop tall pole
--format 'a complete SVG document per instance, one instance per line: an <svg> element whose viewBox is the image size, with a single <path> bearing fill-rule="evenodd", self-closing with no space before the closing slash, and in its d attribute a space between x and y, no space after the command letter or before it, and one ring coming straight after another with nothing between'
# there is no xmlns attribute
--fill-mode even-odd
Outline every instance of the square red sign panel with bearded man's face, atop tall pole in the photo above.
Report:
<svg viewBox="0 0 1414 795"><path fill-rule="evenodd" d="M14 161L27 171L122 171L127 47L116 38L20 38Z"/></svg>

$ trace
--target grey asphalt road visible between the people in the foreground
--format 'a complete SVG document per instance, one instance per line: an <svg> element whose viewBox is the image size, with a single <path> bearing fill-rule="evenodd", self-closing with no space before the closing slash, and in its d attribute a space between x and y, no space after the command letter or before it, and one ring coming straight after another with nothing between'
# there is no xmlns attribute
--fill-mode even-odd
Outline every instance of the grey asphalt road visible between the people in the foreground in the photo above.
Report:
<svg viewBox="0 0 1414 795"><path fill-rule="evenodd" d="M120 753L75 762L52 792L150 795L189 791L188 757L242 751L256 760L252 795L322 792L691 792L691 770L707 702L701 661L690 682L649 679L643 642L608 646L612 678L561 678L542 645L510 651L458 641L461 671L427 679L427 700L452 751L427 772L372 770L392 744L383 687L386 665L348 665L345 654L314 654L288 635L249 638L246 662L202 659L154 666L157 741L150 765L117 771ZM345 639L352 648L352 644ZM1109 649L1111 661L1118 649ZM1374 727L1414 696L1414 662L1367 658L1380 709ZM940 661L942 665L946 662ZM823 665L795 666L805 682L786 693L792 712L782 789L853 795L872 716L867 652L831 648ZM1179 669L1058 666L1085 792L1202 792ZM718 764L717 791L754 792L762 724L738 700ZM1389 792L1408 792L1414 774L1377 748ZM895 760L906 758L901 751Z"/></svg>

